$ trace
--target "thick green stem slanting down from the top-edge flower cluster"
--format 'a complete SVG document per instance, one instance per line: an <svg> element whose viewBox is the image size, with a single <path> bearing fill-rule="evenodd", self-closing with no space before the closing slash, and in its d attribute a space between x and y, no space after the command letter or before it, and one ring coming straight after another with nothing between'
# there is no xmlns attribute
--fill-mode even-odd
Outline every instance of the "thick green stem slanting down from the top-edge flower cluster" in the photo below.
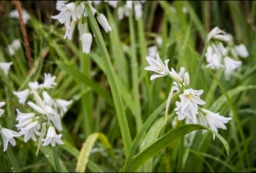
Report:
<svg viewBox="0 0 256 173"><path fill-rule="evenodd" d="M120 126L120 129L121 129L121 134L122 134L122 137L123 137L124 151L125 151L125 154L127 156L128 153L129 153L129 149L131 147L131 144L132 144L132 139L131 139L130 130L129 130L129 127L128 127L127 118L126 118L124 108L123 108L122 97L121 97L121 94L120 94L119 87L117 85L117 79L116 79L116 76L114 74L112 63L111 63L111 58L109 56L109 53L107 51L107 47L105 46L103 37L101 35L99 25L97 24L97 21L95 20L94 16L91 13L91 7L88 3L86 3L85 8L86 8L87 13L89 15L89 21L91 23L91 29L92 29L93 35L95 36L97 46L100 49L101 58L102 58L102 61L103 61L103 64L104 64L105 70L106 70L106 75L108 77L108 81L109 81L110 86L111 86L112 97L113 97L113 101L114 101L114 105L115 105L115 109L116 109L116 115L117 115L117 118L118 118L119 126Z"/></svg>

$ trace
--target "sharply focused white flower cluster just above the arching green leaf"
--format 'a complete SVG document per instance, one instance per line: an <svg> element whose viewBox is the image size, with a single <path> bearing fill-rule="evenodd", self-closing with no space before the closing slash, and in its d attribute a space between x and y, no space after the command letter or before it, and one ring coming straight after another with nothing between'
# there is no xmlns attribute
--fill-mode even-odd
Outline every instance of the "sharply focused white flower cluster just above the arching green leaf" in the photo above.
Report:
<svg viewBox="0 0 256 173"><path fill-rule="evenodd" d="M199 106L205 105L206 102L200 98L203 90L194 90L189 88L189 75L185 69L181 68L180 73L177 74L174 68L171 71L168 68L169 59L165 60L165 65L158 55L156 59L153 57L146 57L150 66L145 67L146 70L154 71L159 75L153 75L151 80L160 76L170 76L174 80L174 86L166 101L165 117L167 116L168 107L170 105L173 93L176 91L179 94L179 101L176 101L176 115L178 120L186 119L187 124L200 124L208 126L214 131L218 132L218 128L227 129L224 124L231 120L231 117L222 117L219 114L208 111ZM166 119L165 119L166 120ZM205 131L203 131L205 133ZM215 136L213 136L215 138Z"/></svg>

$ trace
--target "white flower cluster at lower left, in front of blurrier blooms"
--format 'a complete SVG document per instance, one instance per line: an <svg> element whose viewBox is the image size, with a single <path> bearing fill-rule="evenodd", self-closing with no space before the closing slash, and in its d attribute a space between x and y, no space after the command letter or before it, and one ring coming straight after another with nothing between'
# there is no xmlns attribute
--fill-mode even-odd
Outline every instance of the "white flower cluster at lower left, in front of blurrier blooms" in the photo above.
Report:
<svg viewBox="0 0 256 173"><path fill-rule="evenodd" d="M18 121L16 127L19 130L19 134L24 135L24 142L27 142L30 138L32 138L34 141L37 141L35 135L40 136L40 138L45 137L46 126L48 126L47 137L41 139L42 141L44 141L42 145L48 146L48 144L51 144L52 147L55 147L56 143L64 144L60 140L60 137L62 135L57 135L54 127L61 127L60 117L57 111L54 110L52 107L49 107L48 104L45 103L46 101L43 101L34 89L32 89L32 91L37 104L28 101L27 105L34 109L34 112L22 113L18 109L16 109L16 120ZM53 121L55 117L59 117L59 119L57 121ZM38 145L40 145L40 142L38 143Z"/></svg>

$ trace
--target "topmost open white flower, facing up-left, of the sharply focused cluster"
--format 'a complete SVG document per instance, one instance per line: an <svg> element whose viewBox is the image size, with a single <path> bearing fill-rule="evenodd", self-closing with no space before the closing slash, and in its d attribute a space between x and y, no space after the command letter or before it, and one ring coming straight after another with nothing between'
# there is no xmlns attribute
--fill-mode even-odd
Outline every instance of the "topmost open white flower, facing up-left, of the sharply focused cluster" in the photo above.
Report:
<svg viewBox="0 0 256 173"><path fill-rule="evenodd" d="M159 75L150 76L150 80L154 80L156 77L168 75L168 73L169 73L168 61L169 61L169 59L165 60L165 65L163 64L163 62L160 59L160 56L158 54L156 54L156 58L146 56L146 60L149 64L149 66L146 66L144 69L149 70L149 71L154 71L154 72L159 74Z"/></svg>

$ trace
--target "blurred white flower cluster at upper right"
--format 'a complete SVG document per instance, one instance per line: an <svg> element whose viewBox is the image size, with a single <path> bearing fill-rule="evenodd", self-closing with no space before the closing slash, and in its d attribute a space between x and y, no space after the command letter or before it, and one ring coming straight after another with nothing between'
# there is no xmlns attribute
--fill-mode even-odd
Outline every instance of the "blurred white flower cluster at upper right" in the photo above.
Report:
<svg viewBox="0 0 256 173"><path fill-rule="evenodd" d="M208 33L208 47L206 58L208 66L211 69L219 69L224 67L226 80L230 79L231 74L241 66L240 57L247 57L249 53L243 44L234 46L233 37L219 27L214 27ZM223 43L227 46L223 46ZM234 57L235 59L232 59Z"/></svg>

